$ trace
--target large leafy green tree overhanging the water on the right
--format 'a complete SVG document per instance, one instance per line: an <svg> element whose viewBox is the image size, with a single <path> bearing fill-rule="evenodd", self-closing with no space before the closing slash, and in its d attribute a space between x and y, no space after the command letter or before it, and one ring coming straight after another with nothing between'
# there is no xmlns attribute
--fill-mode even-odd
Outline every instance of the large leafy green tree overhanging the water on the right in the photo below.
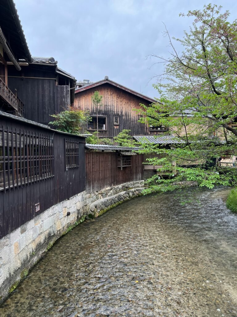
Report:
<svg viewBox="0 0 237 317"><path fill-rule="evenodd" d="M166 29L172 52L167 58L156 56L166 64L157 78L160 84L154 85L160 98L152 107L143 106L141 119L166 126L183 143L172 148L144 145L143 152L157 154L149 164L162 165L160 172L166 173L166 178L150 179L148 191L174 189L173 182L181 180L208 188L236 184L236 170L220 169L216 160L237 154L232 125L237 118L237 21L228 22L229 12L211 4L186 16L194 22L182 39L171 38ZM174 42L182 46L181 53Z"/></svg>

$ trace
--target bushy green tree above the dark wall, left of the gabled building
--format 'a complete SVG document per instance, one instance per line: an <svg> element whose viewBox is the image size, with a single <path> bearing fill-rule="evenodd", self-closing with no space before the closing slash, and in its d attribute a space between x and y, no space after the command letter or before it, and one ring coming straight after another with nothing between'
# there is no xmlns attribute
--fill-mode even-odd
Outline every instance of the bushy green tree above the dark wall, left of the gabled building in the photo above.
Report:
<svg viewBox="0 0 237 317"><path fill-rule="evenodd" d="M83 110L66 110L57 114L52 114L55 120L49 122L56 127L56 130L80 134L87 120L90 120L89 114Z"/></svg>

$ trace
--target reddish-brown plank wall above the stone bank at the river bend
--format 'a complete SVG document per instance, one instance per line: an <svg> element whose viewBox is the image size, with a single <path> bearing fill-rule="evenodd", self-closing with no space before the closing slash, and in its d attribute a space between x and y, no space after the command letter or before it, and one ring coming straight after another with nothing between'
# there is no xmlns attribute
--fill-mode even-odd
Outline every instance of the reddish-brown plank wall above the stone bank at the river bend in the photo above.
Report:
<svg viewBox="0 0 237 317"><path fill-rule="evenodd" d="M132 155L131 166L118 167L115 152L86 152L86 191L93 192L143 179L143 155Z"/></svg>

